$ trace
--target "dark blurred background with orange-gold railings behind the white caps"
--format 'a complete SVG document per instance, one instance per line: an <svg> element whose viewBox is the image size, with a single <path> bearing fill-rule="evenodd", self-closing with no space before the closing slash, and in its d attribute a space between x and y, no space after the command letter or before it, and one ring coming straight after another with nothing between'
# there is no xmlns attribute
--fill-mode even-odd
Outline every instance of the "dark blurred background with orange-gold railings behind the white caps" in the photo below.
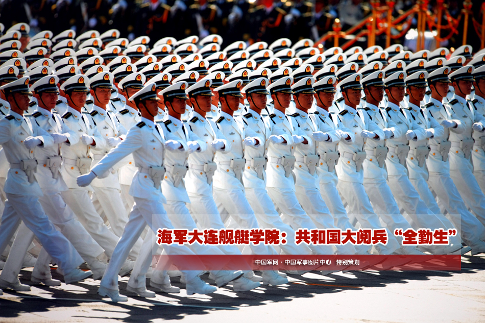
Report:
<svg viewBox="0 0 485 323"><path fill-rule="evenodd" d="M149 36L151 46L166 36L219 34L222 48L236 40L271 43L286 37L344 50L395 43L411 51L453 49L467 43L477 51L485 40L484 8L481 1L455 0L1 0L0 22L6 30L27 22L31 36L117 29L130 41Z"/></svg>

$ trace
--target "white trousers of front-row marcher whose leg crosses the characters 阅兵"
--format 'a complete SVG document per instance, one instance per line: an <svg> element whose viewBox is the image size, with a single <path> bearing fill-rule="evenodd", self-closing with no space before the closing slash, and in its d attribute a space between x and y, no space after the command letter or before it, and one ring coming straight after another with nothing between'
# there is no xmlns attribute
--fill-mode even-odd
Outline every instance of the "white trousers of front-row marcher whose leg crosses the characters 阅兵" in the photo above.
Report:
<svg viewBox="0 0 485 323"><path fill-rule="evenodd" d="M349 207L349 214L355 216L363 229L383 229L379 217L374 213L369 196L366 193L362 183L347 182L339 180L337 189ZM379 254L392 254L398 250L401 245L397 241L393 232L387 230L387 244L377 244L375 249Z"/></svg>

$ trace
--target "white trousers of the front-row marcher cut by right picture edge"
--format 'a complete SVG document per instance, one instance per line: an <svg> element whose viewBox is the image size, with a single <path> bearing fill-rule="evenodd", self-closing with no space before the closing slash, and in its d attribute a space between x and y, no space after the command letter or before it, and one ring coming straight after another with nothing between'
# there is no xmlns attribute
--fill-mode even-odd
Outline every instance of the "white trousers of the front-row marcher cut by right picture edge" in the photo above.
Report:
<svg viewBox="0 0 485 323"><path fill-rule="evenodd" d="M458 158L451 155L450 158ZM463 159L460 159L463 160ZM478 186L475 176L473 176L472 165L470 162L462 162L463 167L450 171L450 177L455 183L463 202L475 213L475 216L485 226L485 195Z"/></svg>

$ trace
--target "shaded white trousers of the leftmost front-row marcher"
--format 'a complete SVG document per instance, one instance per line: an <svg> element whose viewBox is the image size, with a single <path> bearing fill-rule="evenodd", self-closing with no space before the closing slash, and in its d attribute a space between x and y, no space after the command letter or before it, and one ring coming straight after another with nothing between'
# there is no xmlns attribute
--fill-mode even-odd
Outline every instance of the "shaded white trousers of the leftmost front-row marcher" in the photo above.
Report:
<svg viewBox="0 0 485 323"><path fill-rule="evenodd" d="M2 214L2 223L0 224L0 251L4 251L7 243L20 225L20 221L23 221L26 227L39 239L47 253L51 255L64 274L68 274L84 262L76 249L74 249L74 246L54 228L54 225L44 213L37 196L6 194L7 202ZM9 258L23 257L30 242L21 256L11 252ZM8 258L7 261L9 261Z"/></svg>

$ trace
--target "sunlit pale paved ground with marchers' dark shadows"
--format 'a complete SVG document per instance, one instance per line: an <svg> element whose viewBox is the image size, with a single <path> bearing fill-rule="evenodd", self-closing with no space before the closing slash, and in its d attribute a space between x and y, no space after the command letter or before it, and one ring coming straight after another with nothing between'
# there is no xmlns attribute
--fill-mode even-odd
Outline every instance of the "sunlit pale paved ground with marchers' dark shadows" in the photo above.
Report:
<svg viewBox="0 0 485 323"><path fill-rule="evenodd" d="M29 269L21 279L30 279ZM127 281L120 281L121 289ZM288 285L250 292L226 287L187 297L182 289L143 299L125 291L129 301L118 304L96 294L98 283L4 291L0 322L485 322L485 257L463 257L459 272L352 271L330 277L309 272L290 277ZM174 285L183 287L178 279Z"/></svg>

